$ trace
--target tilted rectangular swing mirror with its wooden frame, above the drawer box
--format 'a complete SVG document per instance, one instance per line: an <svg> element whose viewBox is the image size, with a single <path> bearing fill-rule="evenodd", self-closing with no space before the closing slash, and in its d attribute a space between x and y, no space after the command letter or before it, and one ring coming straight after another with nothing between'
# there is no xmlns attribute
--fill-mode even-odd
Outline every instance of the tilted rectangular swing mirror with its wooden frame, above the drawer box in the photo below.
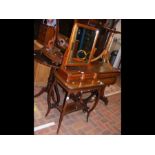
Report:
<svg viewBox="0 0 155 155"><path fill-rule="evenodd" d="M65 66L89 64L94 54L98 33L98 29L94 27L74 24L69 46L65 53Z"/></svg>

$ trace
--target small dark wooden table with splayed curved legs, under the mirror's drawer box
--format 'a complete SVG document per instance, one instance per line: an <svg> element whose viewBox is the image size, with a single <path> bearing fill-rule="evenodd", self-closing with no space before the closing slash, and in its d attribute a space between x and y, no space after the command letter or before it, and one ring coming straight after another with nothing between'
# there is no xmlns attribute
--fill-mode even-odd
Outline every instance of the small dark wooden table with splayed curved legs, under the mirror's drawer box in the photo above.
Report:
<svg viewBox="0 0 155 155"><path fill-rule="evenodd" d="M64 115L72 113L74 111L83 110L87 112L87 122L90 113L96 107L99 98L100 90L104 86L104 83L99 80L87 80L79 82L66 82L57 72L55 73L54 82L51 85L51 88L48 93L48 110L46 116L51 109L56 108L60 112L60 118L57 128L57 134L61 126ZM58 92L58 85L64 90L65 96L63 103L60 104L60 94ZM53 96L53 90L55 90L56 98ZM89 94L85 96L84 94ZM54 98L54 102L51 103ZM68 102L68 99L72 102ZM89 105L89 106L88 106Z"/></svg>

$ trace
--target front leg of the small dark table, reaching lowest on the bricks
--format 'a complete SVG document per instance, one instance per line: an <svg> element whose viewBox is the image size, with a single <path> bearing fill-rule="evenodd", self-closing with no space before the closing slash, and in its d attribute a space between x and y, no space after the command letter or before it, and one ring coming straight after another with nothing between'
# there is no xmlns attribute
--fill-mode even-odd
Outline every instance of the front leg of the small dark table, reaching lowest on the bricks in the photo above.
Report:
<svg viewBox="0 0 155 155"><path fill-rule="evenodd" d="M62 111L61 111L61 114L60 114L59 124L58 124L58 128L57 128L57 134L59 133L61 122L63 120L63 116L64 116L64 113L65 113L67 96L68 96L68 92L66 92L65 97L64 97Z"/></svg>

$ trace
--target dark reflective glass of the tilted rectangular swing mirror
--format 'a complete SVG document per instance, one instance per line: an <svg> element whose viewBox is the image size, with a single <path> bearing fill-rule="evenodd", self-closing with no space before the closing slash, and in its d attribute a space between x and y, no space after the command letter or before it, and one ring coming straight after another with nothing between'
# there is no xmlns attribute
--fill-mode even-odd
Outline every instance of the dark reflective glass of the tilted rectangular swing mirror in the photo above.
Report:
<svg viewBox="0 0 155 155"><path fill-rule="evenodd" d="M78 27L72 42L70 64L88 63L92 52L96 31Z"/></svg>

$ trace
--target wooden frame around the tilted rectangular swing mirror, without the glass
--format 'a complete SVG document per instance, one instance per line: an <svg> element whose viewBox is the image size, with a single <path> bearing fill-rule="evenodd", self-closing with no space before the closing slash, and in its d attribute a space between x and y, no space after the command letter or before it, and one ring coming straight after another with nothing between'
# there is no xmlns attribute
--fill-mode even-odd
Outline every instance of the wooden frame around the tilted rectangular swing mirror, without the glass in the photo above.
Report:
<svg viewBox="0 0 155 155"><path fill-rule="evenodd" d="M92 45L92 49L91 49L91 52L90 52L90 56L89 56L89 60L87 63L70 63L69 62L69 59L70 59L70 56L71 56L71 48L72 48L72 45L73 45L73 42L75 41L75 37L76 37L76 34L77 34L77 31L78 31L78 28L86 28L88 30L93 30L95 31L95 38L94 38L94 42L93 42L93 45ZM72 29L72 33L71 33L71 37L70 37L70 40L69 40L69 45L68 45L68 48L66 49L65 51L65 54L64 54L64 58L63 58L63 62L62 62L62 67L65 67L65 66L81 66L81 65L88 65L90 62L91 62L91 59L92 59L92 56L94 55L94 52L95 52L95 45L96 45L96 41L97 41L97 38L98 38L98 35L99 35L99 30L95 27L92 27L92 26L88 26L88 25L84 25L84 24L80 24L80 23L75 23L74 26L73 26L73 29Z"/></svg>

